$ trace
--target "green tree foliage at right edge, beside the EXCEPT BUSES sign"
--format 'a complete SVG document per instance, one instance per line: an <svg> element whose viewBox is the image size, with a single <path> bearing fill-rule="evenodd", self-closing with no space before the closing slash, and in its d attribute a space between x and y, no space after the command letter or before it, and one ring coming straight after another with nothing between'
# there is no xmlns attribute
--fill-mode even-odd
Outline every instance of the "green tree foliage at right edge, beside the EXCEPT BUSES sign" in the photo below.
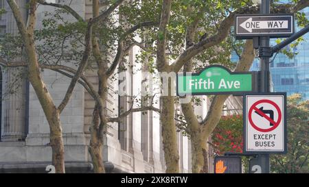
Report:
<svg viewBox="0 0 309 187"><path fill-rule="evenodd" d="M309 173L309 100L301 95L288 97L287 106L288 152L286 155L271 155L273 173Z"/></svg>

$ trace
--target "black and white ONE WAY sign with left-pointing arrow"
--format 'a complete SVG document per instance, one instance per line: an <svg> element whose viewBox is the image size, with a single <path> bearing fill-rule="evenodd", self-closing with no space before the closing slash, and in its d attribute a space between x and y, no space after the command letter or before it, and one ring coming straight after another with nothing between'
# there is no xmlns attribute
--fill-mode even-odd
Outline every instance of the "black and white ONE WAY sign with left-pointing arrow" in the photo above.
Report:
<svg viewBox="0 0 309 187"><path fill-rule="evenodd" d="M236 38L255 36L286 38L294 34L293 14L239 14L236 15Z"/></svg>

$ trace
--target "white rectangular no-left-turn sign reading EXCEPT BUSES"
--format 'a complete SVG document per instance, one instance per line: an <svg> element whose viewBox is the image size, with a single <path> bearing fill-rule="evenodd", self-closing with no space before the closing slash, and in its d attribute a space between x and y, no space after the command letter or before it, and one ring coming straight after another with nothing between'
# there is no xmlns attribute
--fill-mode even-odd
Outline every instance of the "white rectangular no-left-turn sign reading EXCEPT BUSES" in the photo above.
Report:
<svg viewBox="0 0 309 187"><path fill-rule="evenodd" d="M286 152L286 93L244 96L244 152Z"/></svg>

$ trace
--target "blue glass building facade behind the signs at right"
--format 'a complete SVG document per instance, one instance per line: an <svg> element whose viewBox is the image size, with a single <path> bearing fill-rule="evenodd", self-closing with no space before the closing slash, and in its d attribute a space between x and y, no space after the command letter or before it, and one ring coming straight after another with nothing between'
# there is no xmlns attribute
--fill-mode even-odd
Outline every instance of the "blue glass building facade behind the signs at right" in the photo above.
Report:
<svg viewBox="0 0 309 187"><path fill-rule="evenodd" d="M309 18L309 8L304 12ZM296 32L299 29L297 28ZM271 40L271 45L275 45L274 40ZM287 92L288 95L301 93L304 99L309 99L309 33L304 35L304 42L301 42L293 51L298 53L294 58L289 59L286 55L278 53L271 63L273 89L274 92ZM232 55L233 61L237 60L236 56ZM259 60L255 59L251 71L259 71L259 66Z"/></svg>

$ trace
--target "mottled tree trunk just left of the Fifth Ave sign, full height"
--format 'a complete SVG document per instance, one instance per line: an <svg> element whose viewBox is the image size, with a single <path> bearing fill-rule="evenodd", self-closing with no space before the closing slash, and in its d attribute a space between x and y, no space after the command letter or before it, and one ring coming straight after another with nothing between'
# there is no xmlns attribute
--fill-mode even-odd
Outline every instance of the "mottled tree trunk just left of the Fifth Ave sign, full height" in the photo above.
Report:
<svg viewBox="0 0 309 187"><path fill-rule="evenodd" d="M167 25L170 21L170 8L172 1L165 0L162 3L162 12L159 23L157 39L157 69L159 72L169 73L171 68L165 56ZM161 115L163 151L165 157L166 173L179 173L179 151L176 141L176 126L174 121L174 96L171 95L171 89L174 83L168 81L168 96L161 96ZM173 85L171 85L173 84Z"/></svg>

